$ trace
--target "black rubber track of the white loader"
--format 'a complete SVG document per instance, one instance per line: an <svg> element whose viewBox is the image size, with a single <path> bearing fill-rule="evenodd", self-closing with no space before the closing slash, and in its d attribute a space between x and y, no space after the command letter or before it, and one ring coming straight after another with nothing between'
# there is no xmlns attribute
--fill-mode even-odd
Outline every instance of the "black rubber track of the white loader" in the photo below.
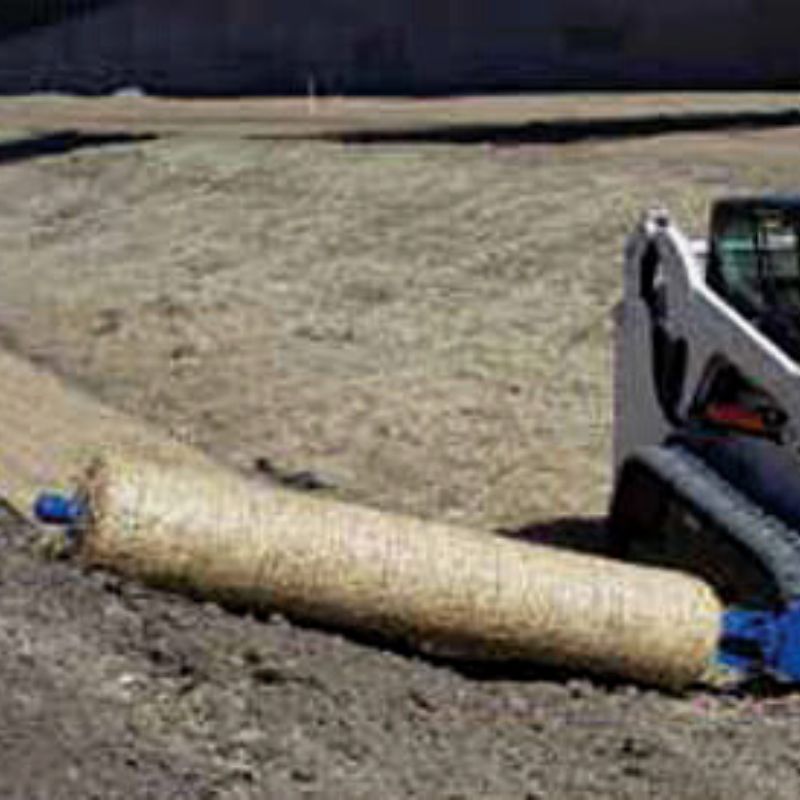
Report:
<svg viewBox="0 0 800 800"><path fill-rule="evenodd" d="M609 515L612 555L706 580L729 605L800 598L800 534L680 446L623 465Z"/></svg>

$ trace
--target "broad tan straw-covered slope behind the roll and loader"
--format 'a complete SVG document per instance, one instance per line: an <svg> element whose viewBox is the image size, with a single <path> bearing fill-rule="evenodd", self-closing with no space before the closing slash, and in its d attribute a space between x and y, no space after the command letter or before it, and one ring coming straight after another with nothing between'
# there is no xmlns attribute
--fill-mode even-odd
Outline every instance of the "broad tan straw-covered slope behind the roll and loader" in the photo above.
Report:
<svg viewBox="0 0 800 800"><path fill-rule="evenodd" d="M484 525L602 513L641 208L791 188L795 136L517 149L181 138L7 166L0 325L249 469Z"/></svg>

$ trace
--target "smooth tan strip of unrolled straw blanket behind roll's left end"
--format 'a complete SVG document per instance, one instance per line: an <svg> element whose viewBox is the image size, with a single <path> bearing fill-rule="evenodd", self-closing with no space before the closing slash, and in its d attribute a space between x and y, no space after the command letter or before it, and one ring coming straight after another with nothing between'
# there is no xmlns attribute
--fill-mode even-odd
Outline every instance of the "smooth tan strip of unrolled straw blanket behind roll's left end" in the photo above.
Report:
<svg viewBox="0 0 800 800"><path fill-rule="evenodd" d="M101 450L146 452L163 463L208 463L198 450L2 349L0 389L0 496L26 516L40 491L68 488Z"/></svg>

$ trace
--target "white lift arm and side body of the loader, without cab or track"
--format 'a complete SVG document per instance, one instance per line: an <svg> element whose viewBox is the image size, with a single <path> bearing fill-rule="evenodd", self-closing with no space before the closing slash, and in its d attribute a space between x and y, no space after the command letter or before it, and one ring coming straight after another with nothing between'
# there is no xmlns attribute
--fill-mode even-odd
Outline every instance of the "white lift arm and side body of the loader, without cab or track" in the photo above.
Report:
<svg viewBox="0 0 800 800"><path fill-rule="evenodd" d="M720 437L714 458L800 521L800 366L709 287L706 252L662 211L648 212L628 240L615 314L615 469L637 449L685 432L715 364L732 365L787 420L777 442ZM680 354L679 365L659 362L659 342Z"/></svg>

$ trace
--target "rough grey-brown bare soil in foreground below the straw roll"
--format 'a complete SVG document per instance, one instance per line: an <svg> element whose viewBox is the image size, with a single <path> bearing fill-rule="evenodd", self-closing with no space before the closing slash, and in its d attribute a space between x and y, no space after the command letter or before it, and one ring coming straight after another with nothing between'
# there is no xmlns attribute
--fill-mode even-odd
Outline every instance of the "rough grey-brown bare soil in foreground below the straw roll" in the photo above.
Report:
<svg viewBox="0 0 800 800"><path fill-rule="evenodd" d="M0 794L795 798L800 705L465 675L47 562L0 521Z"/></svg>

